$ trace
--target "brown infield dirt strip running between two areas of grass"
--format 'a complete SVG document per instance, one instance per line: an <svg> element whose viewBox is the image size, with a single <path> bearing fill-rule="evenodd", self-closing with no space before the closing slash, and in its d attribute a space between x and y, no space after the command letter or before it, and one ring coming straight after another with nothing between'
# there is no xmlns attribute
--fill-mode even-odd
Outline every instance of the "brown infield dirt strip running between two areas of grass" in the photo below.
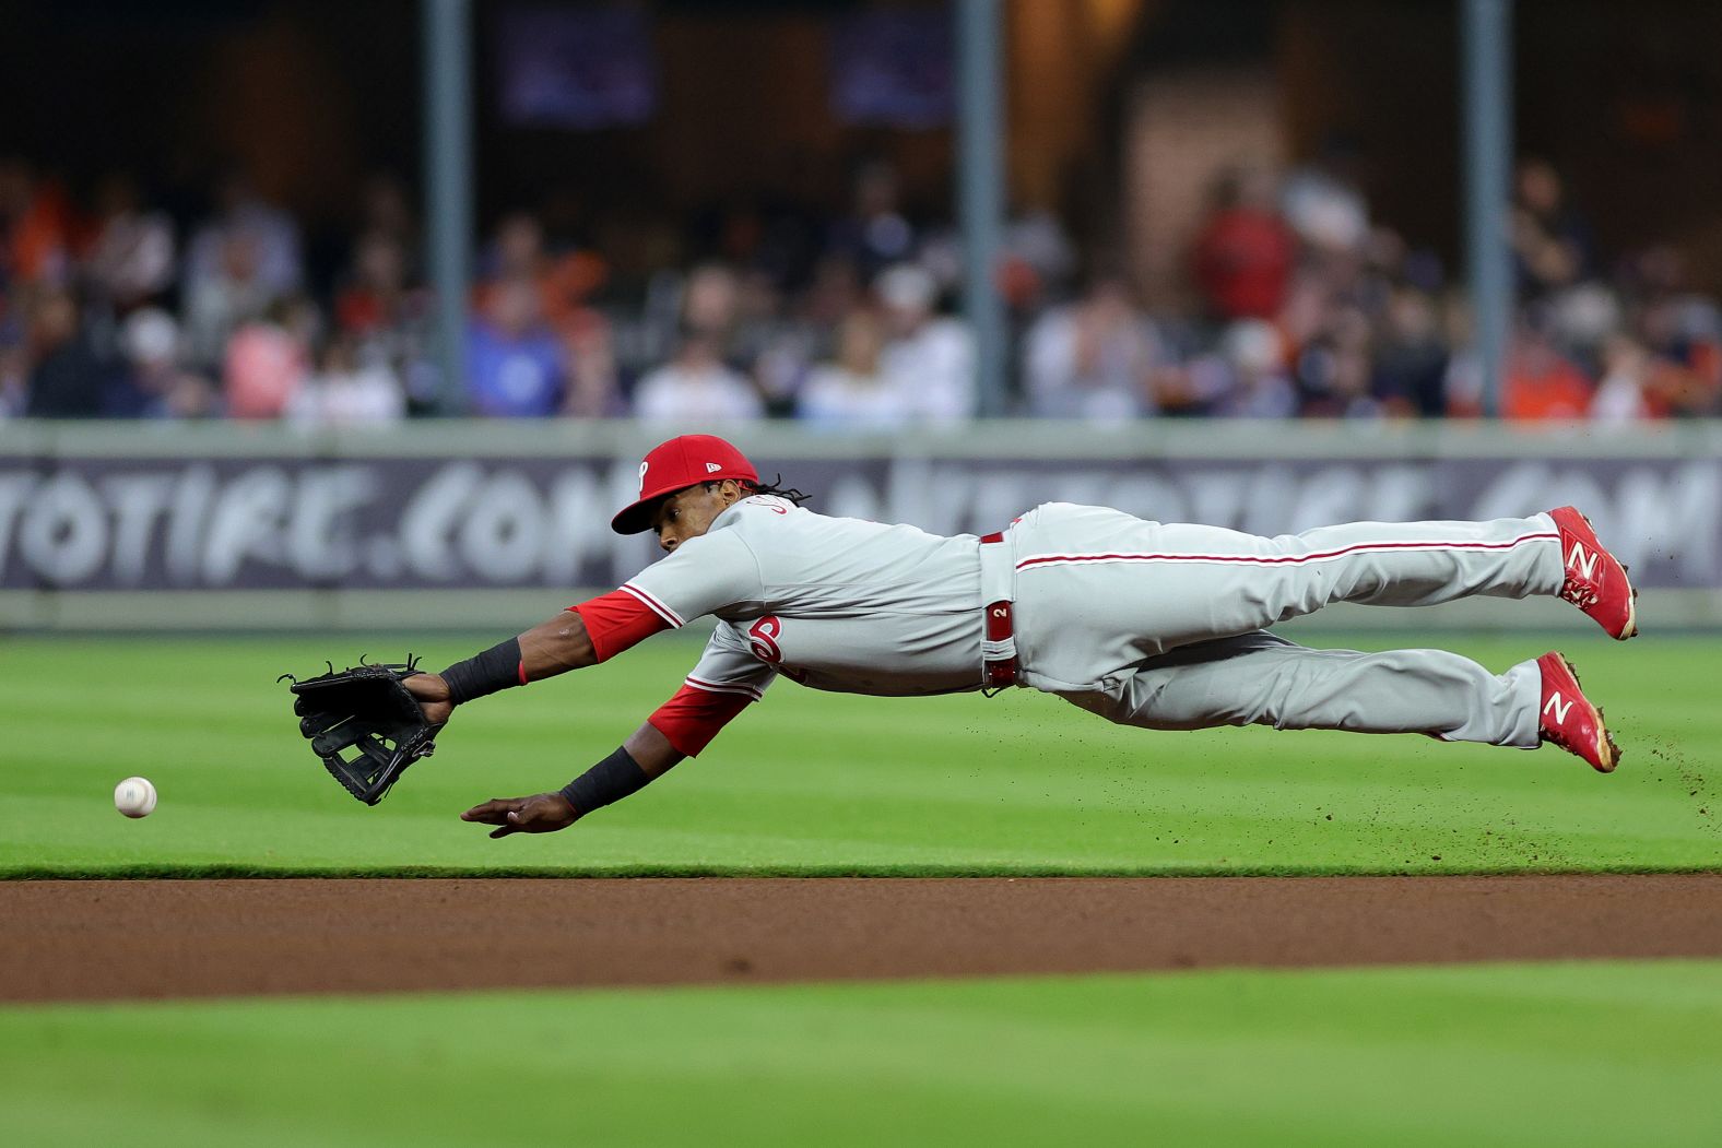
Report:
<svg viewBox="0 0 1722 1148"><path fill-rule="evenodd" d="M0 883L0 1000L1722 955L1722 874Z"/></svg>

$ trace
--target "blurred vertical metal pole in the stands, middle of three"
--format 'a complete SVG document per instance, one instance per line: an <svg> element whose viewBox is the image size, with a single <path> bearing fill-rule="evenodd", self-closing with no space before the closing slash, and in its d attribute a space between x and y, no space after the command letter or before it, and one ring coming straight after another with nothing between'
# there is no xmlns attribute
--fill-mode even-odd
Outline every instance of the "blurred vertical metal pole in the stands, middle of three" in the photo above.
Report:
<svg viewBox="0 0 1722 1148"><path fill-rule="evenodd" d="M1004 86L999 0L957 0L957 225L963 317L975 334L982 415L1004 415L1009 332L995 268L1004 238Z"/></svg>

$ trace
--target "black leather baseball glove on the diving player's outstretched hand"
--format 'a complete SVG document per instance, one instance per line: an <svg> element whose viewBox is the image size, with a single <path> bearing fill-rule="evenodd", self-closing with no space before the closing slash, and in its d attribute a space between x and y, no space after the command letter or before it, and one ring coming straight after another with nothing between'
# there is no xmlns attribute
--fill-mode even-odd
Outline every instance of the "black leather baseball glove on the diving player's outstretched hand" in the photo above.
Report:
<svg viewBox="0 0 1722 1148"><path fill-rule="evenodd" d="M293 682L293 713L312 752L348 793L375 805L394 780L436 749L443 726L425 721L403 678L420 673L408 657L403 666L329 668L329 673ZM346 750L356 750L343 756Z"/></svg>

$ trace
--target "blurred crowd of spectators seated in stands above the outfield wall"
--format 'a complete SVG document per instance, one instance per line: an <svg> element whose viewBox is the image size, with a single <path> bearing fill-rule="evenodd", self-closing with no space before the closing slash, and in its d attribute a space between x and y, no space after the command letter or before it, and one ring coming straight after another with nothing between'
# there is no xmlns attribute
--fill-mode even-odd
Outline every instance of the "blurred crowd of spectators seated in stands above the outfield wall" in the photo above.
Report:
<svg viewBox="0 0 1722 1148"><path fill-rule="evenodd" d="M563 234L567 231L567 234ZM889 430L973 415L947 220L868 164L837 217L744 207L639 238L637 270L579 229L510 213L444 382L422 232L372 179L341 234L308 239L239 172L196 194L117 174L72 189L0 158L0 418L794 418ZM656 246L654 246L656 244ZM1145 310L1116 253L1047 215L1011 222L1011 408L1145 417L1476 415L1452 268L1412 250L1338 165L1240 169L1188 251L1190 303ZM1722 310L1677 251L1600 251L1558 172L1521 165L1508 418L1722 413Z"/></svg>

